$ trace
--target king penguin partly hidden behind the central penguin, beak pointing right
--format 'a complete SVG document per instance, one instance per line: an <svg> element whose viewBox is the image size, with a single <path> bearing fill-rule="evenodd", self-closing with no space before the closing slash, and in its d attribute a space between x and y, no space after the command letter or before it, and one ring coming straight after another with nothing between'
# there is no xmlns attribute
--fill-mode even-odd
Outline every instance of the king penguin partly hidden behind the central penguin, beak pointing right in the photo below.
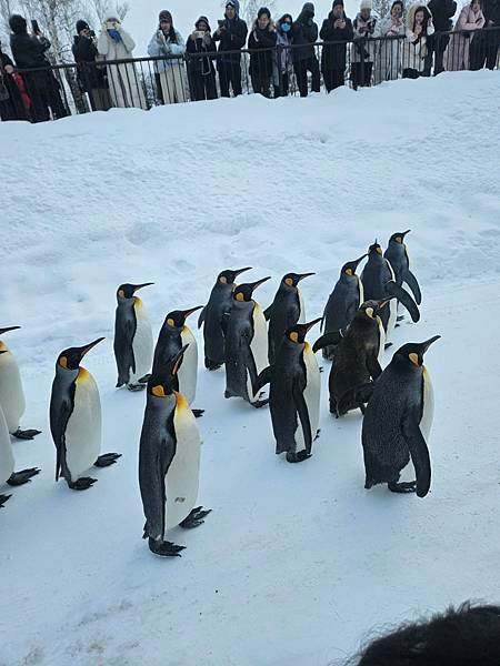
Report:
<svg viewBox="0 0 500 666"><path fill-rule="evenodd" d="M272 365L278 353L278 347L283 340L284 332L297 323L306 321L302 292L299 282L314 273L287 273L283 275L274 300L264 310L266 321L269 321L269 364Z"/></svg>

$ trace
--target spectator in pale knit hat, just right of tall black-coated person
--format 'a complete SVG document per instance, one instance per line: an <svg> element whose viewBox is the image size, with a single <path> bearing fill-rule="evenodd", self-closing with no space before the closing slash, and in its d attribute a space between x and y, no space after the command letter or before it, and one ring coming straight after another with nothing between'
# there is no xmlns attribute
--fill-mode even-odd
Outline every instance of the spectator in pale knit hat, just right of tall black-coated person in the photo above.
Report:
<svg viewBox="0 0 500 666"><path fill-rule="evenodd" d="M351 80L354 90L371 83L377 52L377 42L373 38L379 37L377 17L371 14L371 0L361 0L359 13L352 23L354 41L351 47Z"/></svg>

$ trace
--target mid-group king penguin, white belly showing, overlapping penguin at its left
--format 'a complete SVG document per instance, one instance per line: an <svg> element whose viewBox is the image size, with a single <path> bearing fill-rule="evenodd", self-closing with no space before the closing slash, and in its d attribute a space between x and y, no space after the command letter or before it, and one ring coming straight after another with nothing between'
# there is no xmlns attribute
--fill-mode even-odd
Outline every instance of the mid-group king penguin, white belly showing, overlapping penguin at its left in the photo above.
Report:
<svg viewBox="0 0 500 666"><path fill-rule="evenodd" d="M268 332L262 309L252 300L252 294L268 280L270 278L263 278L236 287L226 335L224 397L242 397L254 407L268 404L253 393L257 377L268 364Z"/></svg>

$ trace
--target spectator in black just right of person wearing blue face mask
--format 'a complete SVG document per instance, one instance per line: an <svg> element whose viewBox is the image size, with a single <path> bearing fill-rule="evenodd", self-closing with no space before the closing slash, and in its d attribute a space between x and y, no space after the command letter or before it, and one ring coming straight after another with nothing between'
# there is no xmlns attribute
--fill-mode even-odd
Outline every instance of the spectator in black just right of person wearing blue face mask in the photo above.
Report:
<svg viewBox="0 0 500 666"><path fill-rule="evenodd" d="M318 23L314 23L314 6L306 2L297 21L292 26L293 68L300 97L308 97L308 72L311 72L312 92L320 91L321 78L318 58L313 44L318 41Z"/></svg>

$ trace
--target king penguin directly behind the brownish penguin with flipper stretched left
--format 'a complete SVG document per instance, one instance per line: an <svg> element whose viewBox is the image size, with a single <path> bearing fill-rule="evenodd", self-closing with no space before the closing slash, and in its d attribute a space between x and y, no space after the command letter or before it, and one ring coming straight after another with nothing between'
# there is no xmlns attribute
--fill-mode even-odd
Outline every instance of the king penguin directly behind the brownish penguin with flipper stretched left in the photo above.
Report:
<svg viewBox="0 0 500 666"><path fill-rule="evenodd" d="M359 264L368 254L348 261L340 270L340 278L331 292L323 312L322 331L333 333L346 330L364 301L363 283L356 274ZM332 360L336 345L323 347L323 357Z"/></svg>

